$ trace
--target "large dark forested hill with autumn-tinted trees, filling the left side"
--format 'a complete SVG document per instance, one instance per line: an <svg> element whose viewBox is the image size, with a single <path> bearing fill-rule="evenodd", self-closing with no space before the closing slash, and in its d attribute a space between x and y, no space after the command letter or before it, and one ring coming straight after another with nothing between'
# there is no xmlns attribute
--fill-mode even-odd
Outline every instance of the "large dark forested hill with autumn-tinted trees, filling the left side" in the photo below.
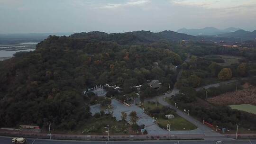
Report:
<svg viewBox="0 0 256 144"><path fill-rule="evenodd" d="M175 65L186 57L183 45L158 42L160 34L142 33L146 36L49 36L34 52L19 52L0 62L0 127L44 127L50 122L55 129L72 129L91 117L88 104L93 99L82 90L109 83L129 93L131 86L152 79L160 80L163 88L173 85ZM151 41L155 43L148 44ZM120 45L129 42L144 44Z"/></svg>

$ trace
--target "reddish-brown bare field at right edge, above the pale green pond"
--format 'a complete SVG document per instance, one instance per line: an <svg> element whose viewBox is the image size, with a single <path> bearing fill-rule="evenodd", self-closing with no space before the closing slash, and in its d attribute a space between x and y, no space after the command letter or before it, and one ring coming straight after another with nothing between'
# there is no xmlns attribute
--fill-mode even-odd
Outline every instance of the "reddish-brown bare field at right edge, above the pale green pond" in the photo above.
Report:
<svg viewBox="0 0 256 144"><path fill-rule="evenodd" d="M250 87L244 90L227 92L217 97L207 99L208 102L217 106L229 106L239 104L256 105L256 87Z"/></svg>

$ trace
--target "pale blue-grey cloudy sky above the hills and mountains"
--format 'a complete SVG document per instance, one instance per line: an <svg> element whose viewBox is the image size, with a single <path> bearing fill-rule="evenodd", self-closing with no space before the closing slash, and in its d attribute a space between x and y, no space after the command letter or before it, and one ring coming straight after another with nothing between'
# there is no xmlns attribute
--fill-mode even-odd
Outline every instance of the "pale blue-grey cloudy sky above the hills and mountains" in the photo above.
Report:
<svg viewBox="0 0 256 144"><path fill-rule="evenodd" d="M256 0L0 0L0 33L256 30Z"/></svg>

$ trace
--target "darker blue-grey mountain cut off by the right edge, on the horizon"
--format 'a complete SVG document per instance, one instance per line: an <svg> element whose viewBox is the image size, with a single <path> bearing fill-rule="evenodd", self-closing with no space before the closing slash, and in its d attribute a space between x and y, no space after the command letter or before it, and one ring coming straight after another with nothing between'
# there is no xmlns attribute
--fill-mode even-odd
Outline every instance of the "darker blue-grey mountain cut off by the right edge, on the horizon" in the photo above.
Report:
<svg viewBox="0 0 256 144"><path fill-rule="evenodd" d="M247 40L256 40L256 30L253 32L245 31L245 30L237 30L232 33L226 33L226 34L220 34L215 37L233 37L233 38L240 38L242 41L247 41Z"/></svg>

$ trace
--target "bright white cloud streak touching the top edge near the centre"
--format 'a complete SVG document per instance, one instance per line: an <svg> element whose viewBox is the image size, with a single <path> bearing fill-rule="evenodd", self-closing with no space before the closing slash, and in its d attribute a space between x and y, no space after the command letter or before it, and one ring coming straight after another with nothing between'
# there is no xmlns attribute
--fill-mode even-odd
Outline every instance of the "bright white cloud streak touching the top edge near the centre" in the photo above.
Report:
<svg viewBox="0 0 256 144"><path fill-rule="evenodd" d="M126 6L143 5L148 2L150 2L150 1L149 0L137 0L137 1L128 1L126 3L108 3L108 4L98 7L98 8L100 8L100 9L116 9L116 8L126 7Z"/></svg>

